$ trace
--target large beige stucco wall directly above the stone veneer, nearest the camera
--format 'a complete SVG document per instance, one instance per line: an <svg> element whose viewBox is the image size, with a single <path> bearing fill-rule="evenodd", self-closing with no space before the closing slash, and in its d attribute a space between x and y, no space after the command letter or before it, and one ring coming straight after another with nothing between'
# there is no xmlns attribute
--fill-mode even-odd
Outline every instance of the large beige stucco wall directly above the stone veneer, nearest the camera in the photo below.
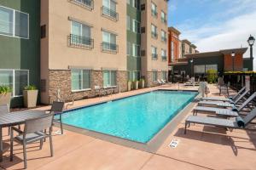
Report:
<svg viewBox="0 0 256 170"><path fill-rule="evenodd" d="M102 0L94 1L90 11L68 0L49 1L49 69L68 69L69 65L88 66L94 70L114 68L126 70L126 2L118 1L117 13L119 20L113 21L102 17ZM68 17L84 21L91 28L91 38L94 48L70 48L67 46L67 36L71 33L71 21ZM102 53L102 29L115 32L118 54Z"/></svg>

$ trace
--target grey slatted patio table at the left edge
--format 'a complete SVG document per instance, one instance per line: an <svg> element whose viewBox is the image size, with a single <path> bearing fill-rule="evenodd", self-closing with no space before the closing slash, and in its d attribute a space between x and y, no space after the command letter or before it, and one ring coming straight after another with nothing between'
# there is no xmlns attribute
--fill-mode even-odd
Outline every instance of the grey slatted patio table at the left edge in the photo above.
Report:
<svg viewBox="0 0 256 170"><path fill-rule="evenodd" d="M26 119L44 116L45 111L15 111L0 115L0 162L3 161L3 127L11 127L25 123Z"/></svg>

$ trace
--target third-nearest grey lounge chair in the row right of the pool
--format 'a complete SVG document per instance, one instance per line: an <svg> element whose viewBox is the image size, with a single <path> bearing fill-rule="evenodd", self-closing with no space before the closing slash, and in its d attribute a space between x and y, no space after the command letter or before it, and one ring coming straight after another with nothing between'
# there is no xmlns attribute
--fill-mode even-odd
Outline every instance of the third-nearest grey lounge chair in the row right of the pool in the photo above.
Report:
<svg viewBox="0 0 256 170"><path fill-rule="evenodd" d="M234 107L238 101L240 101L250 90L246 90L243 94L241 94L236 101L234 102L224 102L224 101L200 101L198 105L217 105L222 107Z"/></svg>

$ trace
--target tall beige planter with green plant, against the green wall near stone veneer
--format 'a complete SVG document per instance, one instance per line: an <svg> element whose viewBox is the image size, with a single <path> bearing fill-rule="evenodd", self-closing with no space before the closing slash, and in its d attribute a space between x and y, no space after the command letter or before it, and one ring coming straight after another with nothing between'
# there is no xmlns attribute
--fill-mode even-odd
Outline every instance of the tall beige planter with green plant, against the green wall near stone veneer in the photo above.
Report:
<svg viewBox="0 0 256 170"><path fill-rule="evenodd" d="M23 90L23 99L25 107L36 107L38 100L38 89L33 85L26 86Z"/></svg>

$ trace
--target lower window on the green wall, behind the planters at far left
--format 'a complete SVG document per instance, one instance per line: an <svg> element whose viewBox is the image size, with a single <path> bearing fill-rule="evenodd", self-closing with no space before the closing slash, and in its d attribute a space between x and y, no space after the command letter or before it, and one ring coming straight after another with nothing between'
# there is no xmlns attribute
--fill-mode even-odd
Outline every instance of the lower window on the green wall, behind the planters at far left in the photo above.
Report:
<svg viewBox="0 0 256 170"><path fill-rule="evenodd" d="M27 70L1 70L0 86L7 86L12 89L14 97L21 96L23 89L29 84L29 71Z"/></svg>

